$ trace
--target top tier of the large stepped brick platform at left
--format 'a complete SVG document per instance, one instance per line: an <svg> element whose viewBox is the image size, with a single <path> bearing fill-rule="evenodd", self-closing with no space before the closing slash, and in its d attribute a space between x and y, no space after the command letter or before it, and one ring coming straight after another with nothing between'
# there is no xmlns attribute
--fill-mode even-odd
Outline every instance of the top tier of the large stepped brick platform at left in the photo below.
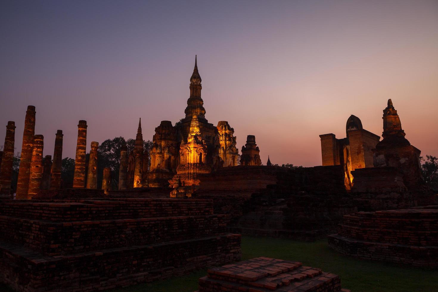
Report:
<svg viewBox="0 0 438 292"><path fill-rule="evenodd" d="M1 201L0 214L50 221L134 219L213 214L212 200L140 199Z"/></svg>

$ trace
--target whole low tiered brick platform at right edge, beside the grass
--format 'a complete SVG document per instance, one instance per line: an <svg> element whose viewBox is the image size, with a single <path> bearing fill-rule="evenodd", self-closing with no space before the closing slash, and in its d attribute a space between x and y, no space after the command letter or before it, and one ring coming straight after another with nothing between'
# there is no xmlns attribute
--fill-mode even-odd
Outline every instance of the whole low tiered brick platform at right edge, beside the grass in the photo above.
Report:
<svg viewBox="0 0 438 292"><path fill-rule="evenodd" d="M438 267L438 206L344 216L329 246L346 255Z"/></svg>

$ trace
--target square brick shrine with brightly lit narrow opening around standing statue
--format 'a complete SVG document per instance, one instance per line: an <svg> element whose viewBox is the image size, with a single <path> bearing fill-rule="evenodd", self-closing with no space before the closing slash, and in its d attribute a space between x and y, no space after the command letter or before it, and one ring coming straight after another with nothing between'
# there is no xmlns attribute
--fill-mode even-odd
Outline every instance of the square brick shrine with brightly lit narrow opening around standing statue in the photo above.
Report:
<svg viewBox="0 0 438 292"><path fill-rule="evenodd" d="M346 123L346 137L336 139L335 134L319 135L321 138L322 165L343 165L345 186L353 185L351 172L373 167L373 151L380 136L365 130L357 116L351 115Z"/></svg>

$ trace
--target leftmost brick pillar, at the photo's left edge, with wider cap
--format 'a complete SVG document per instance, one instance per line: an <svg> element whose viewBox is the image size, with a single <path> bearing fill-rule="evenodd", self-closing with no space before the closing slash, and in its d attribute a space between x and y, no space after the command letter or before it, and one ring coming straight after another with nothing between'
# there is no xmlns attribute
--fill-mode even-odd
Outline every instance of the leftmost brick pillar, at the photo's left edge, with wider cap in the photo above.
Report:
<svg viewBox="0 0 438 292"><path fill-rule="evenodd" d="M15 122L9 121L4 138L3 157L0 162L0 194L11 194L12 165L14 163Z"/></svg>

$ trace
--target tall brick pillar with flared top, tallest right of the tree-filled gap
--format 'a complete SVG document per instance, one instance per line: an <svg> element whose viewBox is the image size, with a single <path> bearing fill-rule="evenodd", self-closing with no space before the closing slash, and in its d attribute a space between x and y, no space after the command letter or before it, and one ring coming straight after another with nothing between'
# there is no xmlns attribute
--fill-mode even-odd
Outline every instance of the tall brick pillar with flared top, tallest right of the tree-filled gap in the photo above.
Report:
<svg viewBox="0 0 438 292"><path fill-rule="evenodd" d="M74 161L73 187L85 187L85 151L87 148L87 121L80 120L78 124L78 144L76 144L76 159Z"/></svg>

